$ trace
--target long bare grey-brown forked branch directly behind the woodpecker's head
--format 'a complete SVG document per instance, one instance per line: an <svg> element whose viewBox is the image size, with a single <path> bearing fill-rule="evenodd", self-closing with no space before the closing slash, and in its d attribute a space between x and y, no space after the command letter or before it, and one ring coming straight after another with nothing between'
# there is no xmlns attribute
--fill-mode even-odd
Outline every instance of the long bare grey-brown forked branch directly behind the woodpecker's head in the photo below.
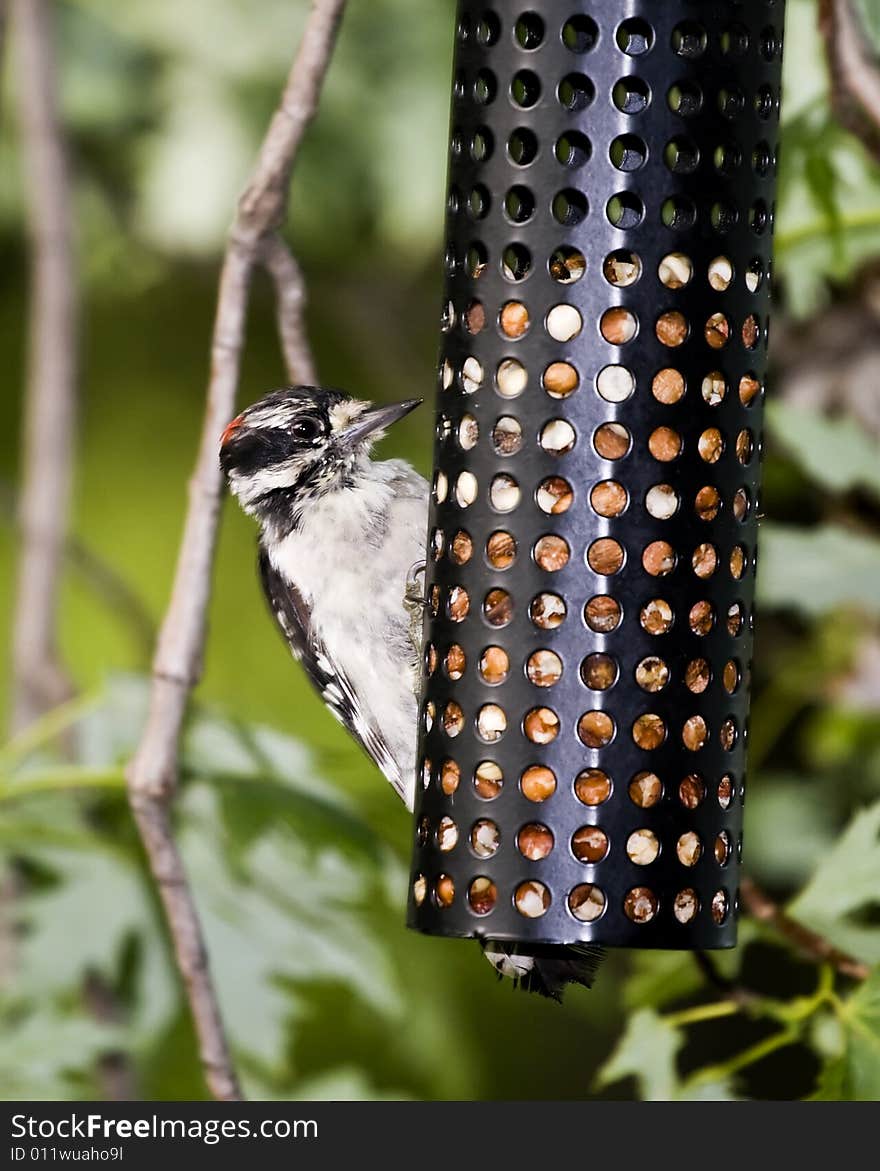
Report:
<svg viewBox="0 0 880 1171"><path fill-rule="evenodd" d="M154 659L150 711L137 753L128 769L129 799L165 909L177 965L196 1023L202 1063L214 1097L241 1096L226 1041L217 994L207 966L202 926L183 860L173 841L170 806L177 786L177 759L191 689L202 671L205 615L220 513L221 481L217 450L223 426L234 413L245 317L255 265L267 259L280 301L293 324L281 337L291 377L308 379L313 363L300 323L302 285L285 258L275 233L281 226L296 151L318 109L345 0L314 0L281 102L260 148L251 182L230 233L220 275L211 377L190 502L171 601ZM287 317L285 319L287 322Z"/></svg>

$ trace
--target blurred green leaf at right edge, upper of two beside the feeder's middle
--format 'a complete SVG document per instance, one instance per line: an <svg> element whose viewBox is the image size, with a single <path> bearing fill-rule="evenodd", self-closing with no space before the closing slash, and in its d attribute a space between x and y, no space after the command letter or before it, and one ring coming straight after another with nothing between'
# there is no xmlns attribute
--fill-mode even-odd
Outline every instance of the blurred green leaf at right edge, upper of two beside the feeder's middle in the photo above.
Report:
<svg viewBox="0 0 880 1171"><path fill-rule="evenodd" d="M830 417L790 403L768 403L773 439L830 492L862 487L880 497L880 443L852 415Z"/></svg>

